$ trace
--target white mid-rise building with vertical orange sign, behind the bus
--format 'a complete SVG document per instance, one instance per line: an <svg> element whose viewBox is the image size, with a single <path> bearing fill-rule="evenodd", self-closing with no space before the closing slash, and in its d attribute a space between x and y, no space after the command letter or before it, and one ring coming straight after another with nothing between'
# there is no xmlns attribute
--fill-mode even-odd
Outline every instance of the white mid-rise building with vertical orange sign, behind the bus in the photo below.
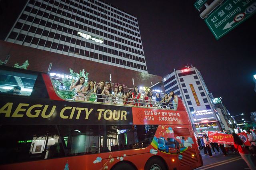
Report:
<svg viewBox="0 0 256 170"><path fill-rule="evenodd" d="M196 67L174 69L163 77L163 82L166 93L174 91L182 98L195 131L222 130L224 126L220 124L220 117L212 103L213 96Z"/></svg>

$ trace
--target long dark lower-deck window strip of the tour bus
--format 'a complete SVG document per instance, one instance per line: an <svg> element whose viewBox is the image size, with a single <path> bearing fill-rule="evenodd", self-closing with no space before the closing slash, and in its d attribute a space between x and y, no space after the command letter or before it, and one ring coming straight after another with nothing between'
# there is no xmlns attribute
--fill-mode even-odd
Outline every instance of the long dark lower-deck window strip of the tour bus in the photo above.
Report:
<svg viewBox="0 0 256 170"><path fill-rule="evenodd" d="M2 125L0 164L146 148L157 125ZM7 133L8 132L8 133Z"/></svg>

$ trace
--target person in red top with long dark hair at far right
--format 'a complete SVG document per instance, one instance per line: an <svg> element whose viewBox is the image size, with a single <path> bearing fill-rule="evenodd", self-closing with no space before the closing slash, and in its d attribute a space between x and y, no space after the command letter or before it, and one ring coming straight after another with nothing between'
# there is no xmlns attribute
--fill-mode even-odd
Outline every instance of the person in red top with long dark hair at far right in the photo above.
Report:
<svg viewBox="0 0 256 170"><path fill-rule="evenodd" d="M232 136L234 139L234 147L236 148L236 150L238 150L239 154L246 162L246 164L249 166L250 170L256 170L254 163L252 162L252 159L250 157L250 153L245 148L244 142L239 138L239 136L236 133L233 132Z"/></svg>

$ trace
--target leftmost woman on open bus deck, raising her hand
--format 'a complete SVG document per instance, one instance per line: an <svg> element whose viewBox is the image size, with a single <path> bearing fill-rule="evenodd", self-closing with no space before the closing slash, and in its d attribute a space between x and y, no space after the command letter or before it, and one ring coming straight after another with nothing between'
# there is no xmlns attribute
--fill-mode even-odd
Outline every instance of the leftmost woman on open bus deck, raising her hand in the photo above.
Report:
<svg viewBox="0 0 256 170"><path fill-rule="evenodd" d="M84 87L84 80L85 78L84 77L80 77L78 79L78 81L76 81L76 83L74 84L74 79L72 79L72 83L71 83L71 86L70 86L70 90L74 89L75 88L75 96L74 96L74 100L75 101L85 101L85 97L84 97L84 94L81 93L81 92L85 92L85 87Z"/></svg>

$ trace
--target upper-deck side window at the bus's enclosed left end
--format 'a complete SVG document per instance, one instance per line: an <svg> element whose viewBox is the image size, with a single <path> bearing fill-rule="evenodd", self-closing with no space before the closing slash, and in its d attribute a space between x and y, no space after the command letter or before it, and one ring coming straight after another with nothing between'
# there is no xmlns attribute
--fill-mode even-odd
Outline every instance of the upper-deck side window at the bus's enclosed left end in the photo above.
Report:
<svg viewBox="0 0 256 170"><path fill-rule="evenodd" d="M1 70L0 93L30 96L37 78L35 73Z"/></svg>

